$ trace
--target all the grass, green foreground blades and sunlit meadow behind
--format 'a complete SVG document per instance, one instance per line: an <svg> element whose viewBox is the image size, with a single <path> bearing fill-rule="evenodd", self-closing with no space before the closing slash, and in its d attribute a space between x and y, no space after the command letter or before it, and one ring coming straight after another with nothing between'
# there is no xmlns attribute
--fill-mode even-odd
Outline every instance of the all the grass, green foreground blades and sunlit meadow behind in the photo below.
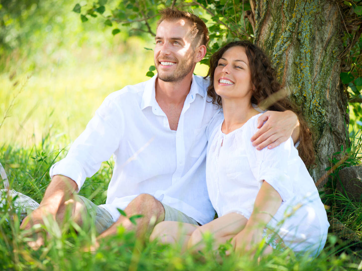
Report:
<svg viewBox="0 0 362 271"><path fill-rule="evenodd" d="M130 44L150 47L136 39ZM133 53L131 48L129 52L99 59L97 55L92 57L91 49L83 48L77 53L76 67L53 61L47 69L33 74L10 71L0 75L0 114L6 116L3 123L0 119L0 162L8 173L11 188L40 202L50 182L50 166L66 155L71 142L83 131L105 96L125 85L148 79L144 74L152 65L152 52ZM205 67L198 66L196 73L204 75ZM347 151L353 161L358 161L361 133L355 132L353 137ZM105 203L112 169L112 159L102 163L101 169L85 181L80 194L97 205ZM331 183L336 176L334 172ZM337 192L329 201L331 206L336 206L329 215L361 235L362 204L353 203ZM248 255L225 257L224 247L217 252L211 250L212 236L205 236L207 249L203 255L181 254L179 247L157 242L140 248L134 234L122 228L117 236L106 240L97 253L84 253L81 248L92 243L95 229L81 229L71 219L62 227L47 221L43 226L50 233L46 244L34 251L26 245L28 237L20 231L20 218L9 209L11 204L8 202L0 208L0 270L362 269L358 252L333 235L315 259L292 251L274 253L260 261ZM220 256L216 257L216 253Z"/></svg>

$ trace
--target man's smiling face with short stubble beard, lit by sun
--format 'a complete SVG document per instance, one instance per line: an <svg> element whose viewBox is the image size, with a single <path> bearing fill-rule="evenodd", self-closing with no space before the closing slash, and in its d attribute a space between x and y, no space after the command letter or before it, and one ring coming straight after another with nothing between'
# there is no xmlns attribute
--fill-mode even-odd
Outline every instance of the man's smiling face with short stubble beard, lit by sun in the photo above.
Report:
<svg viewBox="0 0 362 271"><path fill-rule="evenodd" d="M177 82L194 69L195 50L189 35L190 23L185 19L162 21L156 32L154 51L158 78Z"/></svg>

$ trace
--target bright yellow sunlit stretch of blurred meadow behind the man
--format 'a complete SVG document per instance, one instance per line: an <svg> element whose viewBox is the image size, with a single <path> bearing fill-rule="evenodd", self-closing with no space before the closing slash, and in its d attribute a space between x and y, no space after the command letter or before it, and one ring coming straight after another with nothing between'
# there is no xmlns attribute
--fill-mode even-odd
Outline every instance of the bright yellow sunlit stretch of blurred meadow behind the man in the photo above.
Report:
<svg viewBox="0 0 362 271"><path fill-rule="evenodd" d="M150 46L136 38L129 43L137 43L139 48ZM100 60L84 50L77 57L79 65L41 70L28 81L26 74L16 75L11 81L9 74L0 75L0 116L9 107L14 93L24 85L1 128L0 144L24 146L29 141L40 142L51 126L52 136L64 136L68 143L72 142L107 95L150 79L146 72L153 65L153 52L147 50L107 55ZM206 65L197 65L195 73L205 76L207 69Z"/></svg>

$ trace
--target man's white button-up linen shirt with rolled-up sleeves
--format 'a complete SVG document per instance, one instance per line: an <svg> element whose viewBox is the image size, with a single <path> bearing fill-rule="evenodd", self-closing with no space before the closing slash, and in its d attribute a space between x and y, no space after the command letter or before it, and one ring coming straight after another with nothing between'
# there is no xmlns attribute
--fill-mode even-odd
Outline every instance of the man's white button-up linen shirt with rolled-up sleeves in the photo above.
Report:
<svg viewBox="0 0 362 271"><path fill-rule="evenodd" d="M64 175L78 191L86 177L113 154L114 169L104 207L116 221L137 195L148 193L205 224L214 218L206 188L206 126L218 112L207 102L209 81L193 76L177 130L169 128L156 102L155 80L110 94L66 158L52 165L51 178ZM208 99L210 100L210 98Z"/></svg>

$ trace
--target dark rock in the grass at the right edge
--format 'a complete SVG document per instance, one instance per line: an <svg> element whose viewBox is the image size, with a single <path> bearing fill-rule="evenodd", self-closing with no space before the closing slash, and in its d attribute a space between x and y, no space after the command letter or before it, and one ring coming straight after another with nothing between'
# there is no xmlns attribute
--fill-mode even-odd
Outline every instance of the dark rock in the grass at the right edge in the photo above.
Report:
<svg viewBox="0 0 362 271"><path fill-rule="evenodd" d="M362 166L345 167L338 172L337 190L354 201L362 201ZM342 187L342 185L343 187Z"/></svg>

